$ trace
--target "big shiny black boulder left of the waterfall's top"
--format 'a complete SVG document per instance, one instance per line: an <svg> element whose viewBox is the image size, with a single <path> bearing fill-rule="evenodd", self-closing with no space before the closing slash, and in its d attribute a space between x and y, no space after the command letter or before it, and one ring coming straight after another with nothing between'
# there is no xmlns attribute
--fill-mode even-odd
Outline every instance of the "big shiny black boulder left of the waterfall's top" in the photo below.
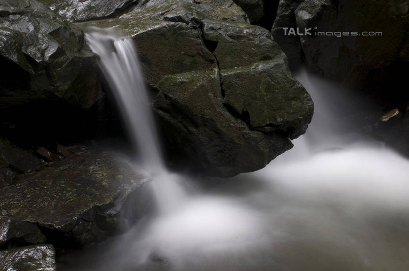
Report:
<svg viewBox="0 0 409 271"><path fill-rule="evenodd" d="M80 28L36 0L0 6L0 108L61 100L89 108L98 93L97 68Z"/></svg>

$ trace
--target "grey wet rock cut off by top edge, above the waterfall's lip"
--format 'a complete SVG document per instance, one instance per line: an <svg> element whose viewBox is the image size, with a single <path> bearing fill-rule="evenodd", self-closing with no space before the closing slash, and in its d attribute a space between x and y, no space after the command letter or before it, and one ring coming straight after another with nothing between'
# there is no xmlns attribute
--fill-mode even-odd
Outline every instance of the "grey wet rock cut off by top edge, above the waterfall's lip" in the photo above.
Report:
<svg viewBox="0 0 409 271"><path fill-rule="evenodd" d="M70 21L101 19L120 14L139 0L39 0ZM142 1L143 2L143 1Z"/></svg>

